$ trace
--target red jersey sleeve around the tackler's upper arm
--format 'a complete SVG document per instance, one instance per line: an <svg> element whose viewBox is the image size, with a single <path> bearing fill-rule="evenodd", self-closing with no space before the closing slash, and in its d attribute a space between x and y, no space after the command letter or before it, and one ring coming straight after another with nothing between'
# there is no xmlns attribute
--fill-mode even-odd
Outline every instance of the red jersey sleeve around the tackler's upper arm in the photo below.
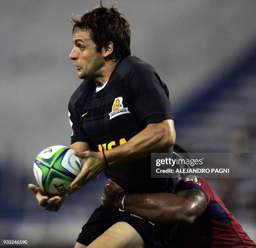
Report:
<svg viewBox="0 0 256 248"><path fill-rule="evenodd" d="M188 189L201 190L205 194L207 205L208 205L212 198L209 188L210 186L201 177L196 177L191 175L191 176L182 178L182 180L178 182L178 184L175 187L175 192L179 190L188 190Z"/></svg>

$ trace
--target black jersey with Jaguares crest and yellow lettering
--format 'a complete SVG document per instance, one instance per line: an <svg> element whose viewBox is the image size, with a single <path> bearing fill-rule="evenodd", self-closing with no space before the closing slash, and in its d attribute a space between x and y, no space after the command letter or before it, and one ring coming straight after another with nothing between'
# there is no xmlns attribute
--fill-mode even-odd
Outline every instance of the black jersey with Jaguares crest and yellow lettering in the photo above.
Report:
<svg viewBox="0 0 256 248"><path fill-rule="evenodd" d="M135 56L118 63L107 85L95 93L84 80L69 101L71 144L87 142L92 151L112 149L141 132L147 124L173 119L169 91L156 70ZM172 152L172 147L162 152ZM105 175L130 192L165 192L166 179L151 178L151 158L124 162Z"/></svg>

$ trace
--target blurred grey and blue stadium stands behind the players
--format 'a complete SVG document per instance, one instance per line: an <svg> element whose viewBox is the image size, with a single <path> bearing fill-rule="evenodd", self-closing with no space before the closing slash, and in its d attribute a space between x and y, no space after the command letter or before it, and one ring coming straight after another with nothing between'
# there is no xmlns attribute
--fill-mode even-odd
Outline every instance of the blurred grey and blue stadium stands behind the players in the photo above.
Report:
<svg viewBox="0 0 256 248"><path fill-rule="evenodd" d="M27 188L35 182L38 152L69 146L67 104L81 83L68 58L69 20L98 3L0 2L0 239L73 247L100 205L103 175L57 213L41 209ZM194 152L255 152L256 1L118 0L116 6L131 24L132 54L151 63L169 88L177 142ZM208 181L255 242L256 180Z"/></svg>

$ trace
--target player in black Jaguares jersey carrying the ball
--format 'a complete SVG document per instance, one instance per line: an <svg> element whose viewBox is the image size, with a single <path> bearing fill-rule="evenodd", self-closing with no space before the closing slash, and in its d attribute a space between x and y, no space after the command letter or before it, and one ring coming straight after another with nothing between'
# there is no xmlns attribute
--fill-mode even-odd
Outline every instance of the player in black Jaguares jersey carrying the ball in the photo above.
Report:
<svg viewBox="0 0 256 248"><path fill-rule="evenodd" d="M169 92L148 63L131 56L130 26L113 6L102 4L72 18L70 58L84 79L69 101L71 147L84 166L75 192L104 170L129 192L166 192L166 179L151 179L151 152L172 152L175 130ZM67 197L29 185L39 205L57 211ZM85 203L86 204L86 203ZM154 226L128 213L97 208L75 248L144 247Z"/></svg>

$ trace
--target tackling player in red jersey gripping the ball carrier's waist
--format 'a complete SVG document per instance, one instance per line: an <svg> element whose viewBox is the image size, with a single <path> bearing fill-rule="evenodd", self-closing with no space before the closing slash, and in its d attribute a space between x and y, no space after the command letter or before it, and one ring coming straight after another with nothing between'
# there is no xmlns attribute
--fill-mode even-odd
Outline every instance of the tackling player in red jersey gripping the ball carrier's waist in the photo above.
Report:
<svg viewBox="0 0 256 248"><path fill-rule="evenodd" d="M181 154L176 152L186 151L174 144L174 154L179 158ZM158 223L152 244L154 248L256 247L220 197L201 177L179 178L174 194L135 194L122 190L110 180L105 186L102 204Z"/></svg>

